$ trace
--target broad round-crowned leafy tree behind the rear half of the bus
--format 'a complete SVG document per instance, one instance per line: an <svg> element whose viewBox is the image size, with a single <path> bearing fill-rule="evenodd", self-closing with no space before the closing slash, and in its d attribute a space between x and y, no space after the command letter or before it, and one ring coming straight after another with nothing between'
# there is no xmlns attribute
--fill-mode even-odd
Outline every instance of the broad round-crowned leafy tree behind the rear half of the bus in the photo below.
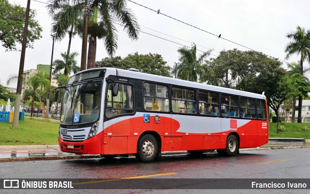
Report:
<svg viewBox="0 0 310 194"><path fill-rule="evenodd" d="M204 66L209 68L209 74L203 81L212 85L262 94L263 82L256 80L270 79L274 72L284 71L280 65L278 60L260 52L224 50L217 58L206 61Z"/></svg>

